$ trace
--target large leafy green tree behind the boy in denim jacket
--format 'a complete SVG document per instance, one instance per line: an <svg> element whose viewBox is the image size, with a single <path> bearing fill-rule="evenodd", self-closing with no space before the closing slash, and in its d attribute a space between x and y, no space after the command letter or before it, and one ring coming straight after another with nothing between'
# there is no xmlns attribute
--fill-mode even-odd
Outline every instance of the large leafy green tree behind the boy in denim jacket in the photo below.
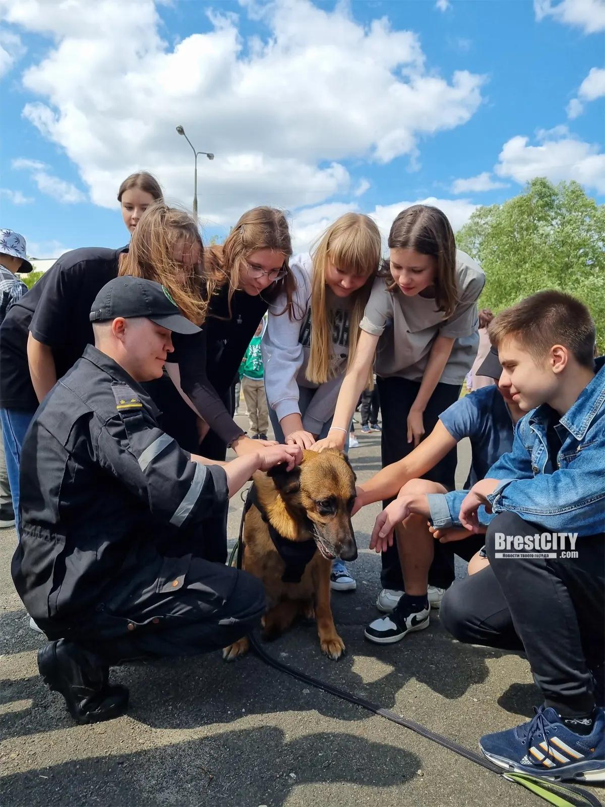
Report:
<svg viewBox="0 0 605 807"><path fill-rule="evenodd" d="M480 307L499 312L540 289L560 289L590 308L605 348L605 205L578 182L528 182L503 205L478 207L456 236L486 273Z"/></svg>

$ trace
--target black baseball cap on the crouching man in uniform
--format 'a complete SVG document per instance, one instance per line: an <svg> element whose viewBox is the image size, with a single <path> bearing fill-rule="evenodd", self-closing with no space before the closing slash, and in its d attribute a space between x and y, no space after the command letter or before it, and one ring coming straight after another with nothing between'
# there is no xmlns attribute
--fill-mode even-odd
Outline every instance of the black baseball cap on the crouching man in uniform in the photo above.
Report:
<svg viewBox="0 0 605 807"><path fill-rule="evenodd" d="M146 319L175 333L198 333L201 328L182 316L170 292L161 283L125 274L106 283L94 298L90 322L115 320L116 316Z"/></svg>

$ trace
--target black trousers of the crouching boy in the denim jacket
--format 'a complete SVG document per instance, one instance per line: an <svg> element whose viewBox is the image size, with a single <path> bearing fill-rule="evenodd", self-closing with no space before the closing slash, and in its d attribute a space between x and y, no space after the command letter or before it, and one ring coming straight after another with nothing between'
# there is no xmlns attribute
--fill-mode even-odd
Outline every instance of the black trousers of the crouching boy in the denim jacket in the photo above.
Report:
<svg viewBox="0 0 605 807"><path fill-rule="evenodd" d="M453 584L440 621L459 642L524 650L546 705L584 714L595 704L590 671L603 675L605 658L605 534L578 536L578 558L495 557L495 533L543 532L515 513L496 516L490 566Z"/></svg>

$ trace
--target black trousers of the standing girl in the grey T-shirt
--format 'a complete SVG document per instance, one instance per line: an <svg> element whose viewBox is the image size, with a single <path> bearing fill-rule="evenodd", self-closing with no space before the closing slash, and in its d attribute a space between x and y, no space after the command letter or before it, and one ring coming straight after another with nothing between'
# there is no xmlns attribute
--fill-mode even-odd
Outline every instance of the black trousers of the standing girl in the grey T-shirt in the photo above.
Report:
<svg viewBox="0 0 605 807"><path fill-rule="evenodd" d="M376 379L378 395L380 395L380 408L382 411L382 467L398 462L407 457L414 449L414 443L407 442L407 416L412 403L420 389L419 381L408 381L407 378L381 378ZM439 383L428 400L424 410L424 433L430 434L435 428L441 412L444 412L460 397L461 387L454 384ZM456 487L455 475L457 465L457 450L454 448L444 456L436 466L423 476L438 482L449 491ZM382 507L392 502L388 499L382 502ZM444 544L436 542L435 558L428 573L428 583L431 586L447 588L451 585L455 573L453 567L453 554L443 550ZM403 591L405 584L399 562L397 544L393 541L386 552L382 553L382 572L380 575L383 588L392 588Z"/></svg>

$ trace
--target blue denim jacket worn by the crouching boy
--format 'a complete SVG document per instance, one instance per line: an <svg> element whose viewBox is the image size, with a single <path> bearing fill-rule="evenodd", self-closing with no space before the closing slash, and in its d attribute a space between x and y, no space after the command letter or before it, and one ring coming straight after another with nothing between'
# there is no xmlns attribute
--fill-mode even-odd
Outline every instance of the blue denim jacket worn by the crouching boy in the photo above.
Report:
<svg viewBox="0 0 605 807"><path fill-rule="evenodd" d="M503 454L486 474L500 480L487 497L494 515L515 512L545 529L585 536L605 532L605 358L596 360L595 369L595 378L555 426L561 449L553 473L548 472L548 408L532 409L519 420L510 454ZM460 526L467 492L428 496L436 527ZM494 517L485 508L478 516L482 524Z"/></svg>

